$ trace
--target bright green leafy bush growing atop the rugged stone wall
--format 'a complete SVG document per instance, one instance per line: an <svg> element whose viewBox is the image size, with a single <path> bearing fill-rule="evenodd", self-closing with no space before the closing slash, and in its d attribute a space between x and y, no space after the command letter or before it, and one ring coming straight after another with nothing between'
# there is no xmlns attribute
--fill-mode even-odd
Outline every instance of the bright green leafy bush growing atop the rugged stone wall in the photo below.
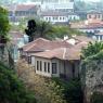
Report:
<svg viewBox="0 0 103 103"><path fill-rule="evenodd" d="M82 49L82 57L92 56L103 50L103 42L89 43L87 48Z"/></svg>

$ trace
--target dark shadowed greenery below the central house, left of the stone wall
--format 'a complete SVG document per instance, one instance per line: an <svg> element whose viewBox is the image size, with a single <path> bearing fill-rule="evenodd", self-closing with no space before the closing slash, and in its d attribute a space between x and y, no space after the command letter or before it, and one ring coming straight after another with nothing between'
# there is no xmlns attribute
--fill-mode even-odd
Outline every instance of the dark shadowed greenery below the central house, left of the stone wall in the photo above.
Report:
<svg viewBox="0 0 103 103"><path fill-rule="evenodd" d="M78 78L69 79L68 81L61 79L53 79L56 85L61 86L64 100L67 103L82 103L83 94L81 83Z"/></svg>

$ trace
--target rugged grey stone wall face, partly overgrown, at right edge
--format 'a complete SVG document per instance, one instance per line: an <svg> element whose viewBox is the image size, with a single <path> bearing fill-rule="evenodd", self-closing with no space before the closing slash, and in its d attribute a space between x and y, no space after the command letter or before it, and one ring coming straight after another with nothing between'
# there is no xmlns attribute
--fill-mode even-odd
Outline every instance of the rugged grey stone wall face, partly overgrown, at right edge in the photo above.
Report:
<svg viewBox="0 0 103 103"><path fill-rule="evenodd" d="M94 91L103 92L103 54L100 59L92 56L85 60L81 69L86 99L90 102L90 96Z"/></svg>

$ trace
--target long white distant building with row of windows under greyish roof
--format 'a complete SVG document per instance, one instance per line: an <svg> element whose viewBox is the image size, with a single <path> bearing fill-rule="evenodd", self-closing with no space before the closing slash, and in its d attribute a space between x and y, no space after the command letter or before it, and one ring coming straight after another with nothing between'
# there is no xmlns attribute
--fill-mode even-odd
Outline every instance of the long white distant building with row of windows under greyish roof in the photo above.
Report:
<svg viewBox="0 0 103 103"><path fill-rule="evenodd" d="M68 25L70 21L78 21L80 17L76 13L67 13L60 11L44 11L41 12L40 18L50 22L52 24L66 24Z"/></svg>

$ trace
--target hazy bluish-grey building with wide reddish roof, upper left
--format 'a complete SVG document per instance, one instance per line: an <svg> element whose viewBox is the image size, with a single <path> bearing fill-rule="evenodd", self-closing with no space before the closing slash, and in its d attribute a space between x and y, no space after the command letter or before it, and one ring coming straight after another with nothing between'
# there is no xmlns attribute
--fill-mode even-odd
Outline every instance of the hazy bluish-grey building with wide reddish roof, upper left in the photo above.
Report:
<svg viewBox="0 0 103 103"><path fill-rule="evenodd" d="M14 4L8 7L10 22L18 22L24 17L35 17L39 11L39 5L35 4Z"/></svg>

